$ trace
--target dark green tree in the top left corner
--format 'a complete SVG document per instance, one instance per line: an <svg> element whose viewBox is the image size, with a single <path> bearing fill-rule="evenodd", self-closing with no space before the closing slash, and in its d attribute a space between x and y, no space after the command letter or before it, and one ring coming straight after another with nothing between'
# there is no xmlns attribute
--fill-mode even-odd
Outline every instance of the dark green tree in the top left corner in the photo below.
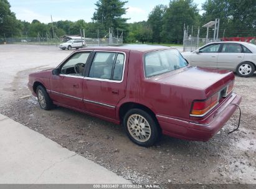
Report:
<svg viewBox="0 0 256 189"><path fill-rule="evenodd" d="M21 22L18 22L7 0L0 0L0 36L11 37L21 32Z"/></svg>

